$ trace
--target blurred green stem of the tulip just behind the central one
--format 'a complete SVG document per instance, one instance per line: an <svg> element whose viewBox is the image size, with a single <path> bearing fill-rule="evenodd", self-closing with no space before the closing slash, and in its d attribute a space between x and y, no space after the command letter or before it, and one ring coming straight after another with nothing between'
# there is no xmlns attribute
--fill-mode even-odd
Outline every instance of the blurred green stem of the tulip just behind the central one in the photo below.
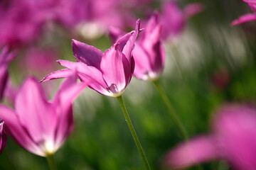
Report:
<svg viewBox="0 0 256 170"><path fill-rule="evenodd" d="M168 108L168 111L171 114L171 117L174 119L176 125L178 126L179 130L181 131L181 135L183 136L183 139L188 141L188 133L186 132L184 125L181 123L181 120L178 118L178 116L174 112L174 109L171 106L171 102L167 98L164 91L161 89L159 82L157 80L154 80L152 82L154 83L154 86L156 86L156 89L159 92L159 95L161 96L162 100L164 101L166 107Z"/></svg>

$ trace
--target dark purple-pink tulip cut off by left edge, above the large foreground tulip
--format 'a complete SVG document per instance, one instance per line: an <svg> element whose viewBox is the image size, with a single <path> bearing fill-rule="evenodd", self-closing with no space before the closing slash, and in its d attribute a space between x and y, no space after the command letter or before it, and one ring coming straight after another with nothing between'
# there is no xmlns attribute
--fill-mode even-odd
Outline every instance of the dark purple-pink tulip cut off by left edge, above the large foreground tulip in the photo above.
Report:
<svg viewBox="0 0 256 170"><path fill-rule="evenodd" d="M4 89L8 81L8 66L11 60L14 59L16 52L8 52L8 48L4 47L0 52L0 101L4 96Z"/></svg>

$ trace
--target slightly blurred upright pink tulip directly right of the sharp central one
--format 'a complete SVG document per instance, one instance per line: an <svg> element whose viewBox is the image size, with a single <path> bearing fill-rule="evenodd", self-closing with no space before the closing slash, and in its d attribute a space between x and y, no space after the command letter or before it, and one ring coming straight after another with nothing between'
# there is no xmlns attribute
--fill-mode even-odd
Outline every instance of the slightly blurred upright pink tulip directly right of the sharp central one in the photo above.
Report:
<svg viewBox="0 0 256 170"><path fill-rule="evenodd" d="M165 52L160 40L161 24L155 12L146 23L134 47L134 76L142 80L155 80L164 67Z"/></svg>

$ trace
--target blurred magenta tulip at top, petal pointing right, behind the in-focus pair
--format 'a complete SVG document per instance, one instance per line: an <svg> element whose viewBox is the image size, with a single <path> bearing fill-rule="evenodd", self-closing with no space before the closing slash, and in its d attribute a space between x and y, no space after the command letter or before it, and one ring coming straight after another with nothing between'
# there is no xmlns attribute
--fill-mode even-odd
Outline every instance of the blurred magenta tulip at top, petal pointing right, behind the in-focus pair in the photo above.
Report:
<svg viewBox="0 0 256 170"><path fill-rule="evenodd" d="M188 4L181 11L176 1L164 2L161 5L161 23L163 24L161 38L166 40L169 36L179 35L185 27L188 18L203 10L204 6L199 3Z"/></svg>

